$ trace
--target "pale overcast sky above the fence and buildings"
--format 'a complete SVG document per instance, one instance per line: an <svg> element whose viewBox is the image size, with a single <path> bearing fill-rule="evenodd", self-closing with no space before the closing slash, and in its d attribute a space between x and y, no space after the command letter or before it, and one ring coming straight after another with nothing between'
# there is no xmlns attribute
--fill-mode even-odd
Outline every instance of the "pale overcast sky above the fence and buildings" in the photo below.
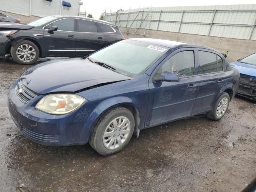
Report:
<svg viewBox="0 0 256 192"><path fill-rule="evenodd" d="M232 5L232 4L256 4L256 0L82 0L81 6L84 12L92 14L95 19L100 18L102 10L116 12L120 8L143 7L172 7L172 6L203 6L203 5Z"/></svg>

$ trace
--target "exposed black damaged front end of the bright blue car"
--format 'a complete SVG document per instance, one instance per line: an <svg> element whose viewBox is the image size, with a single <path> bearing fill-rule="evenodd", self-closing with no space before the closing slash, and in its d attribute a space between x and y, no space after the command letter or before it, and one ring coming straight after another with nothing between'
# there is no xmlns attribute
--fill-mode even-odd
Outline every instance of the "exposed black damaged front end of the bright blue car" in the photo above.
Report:
<svg viewBox="0 0 256 192"><path fill-rule="evenodd" d="M240 74L237 94L256 101L256 77Z"/></svg>

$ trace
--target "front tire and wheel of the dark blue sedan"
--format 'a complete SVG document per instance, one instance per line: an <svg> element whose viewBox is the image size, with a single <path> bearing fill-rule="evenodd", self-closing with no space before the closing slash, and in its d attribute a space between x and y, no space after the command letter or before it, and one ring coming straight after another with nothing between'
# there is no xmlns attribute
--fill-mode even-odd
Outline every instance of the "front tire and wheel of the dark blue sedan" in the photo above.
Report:
<svg viewBox="0 0 256 192"><path fill-rule="evenodd" d="M134 126L134 116L130 110L123 107L111 109L94 126L89 139L90 146L104 156L115 154L128 144Z"/></svg>

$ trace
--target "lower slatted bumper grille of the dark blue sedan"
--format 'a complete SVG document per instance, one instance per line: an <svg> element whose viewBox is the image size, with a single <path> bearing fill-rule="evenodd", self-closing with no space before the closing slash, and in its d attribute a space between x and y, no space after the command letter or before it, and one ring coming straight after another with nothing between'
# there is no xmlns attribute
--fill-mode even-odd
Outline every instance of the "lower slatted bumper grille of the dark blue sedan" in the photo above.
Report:
<svg viewBox="0 0 256 192"><path fill-rule="evenodd" d="M46 134L36 133L23 126L21 131L25 136L34 140L38 140L42 142L52 142L52 143L56 143L60 141L60 136L58 135L46 135Z"/></svg>

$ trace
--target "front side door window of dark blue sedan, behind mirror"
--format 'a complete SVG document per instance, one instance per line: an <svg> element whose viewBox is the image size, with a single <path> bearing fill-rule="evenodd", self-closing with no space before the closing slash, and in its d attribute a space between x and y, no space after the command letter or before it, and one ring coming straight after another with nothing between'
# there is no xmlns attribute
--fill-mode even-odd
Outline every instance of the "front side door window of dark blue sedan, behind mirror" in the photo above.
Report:
<svg viewBox="0 0 256 192"><path fill-rule="evenodd" d="M194 51L182 51L175 54L162 65L157 74L165 71L173 72L179 77L194 75Z"/></svg>

